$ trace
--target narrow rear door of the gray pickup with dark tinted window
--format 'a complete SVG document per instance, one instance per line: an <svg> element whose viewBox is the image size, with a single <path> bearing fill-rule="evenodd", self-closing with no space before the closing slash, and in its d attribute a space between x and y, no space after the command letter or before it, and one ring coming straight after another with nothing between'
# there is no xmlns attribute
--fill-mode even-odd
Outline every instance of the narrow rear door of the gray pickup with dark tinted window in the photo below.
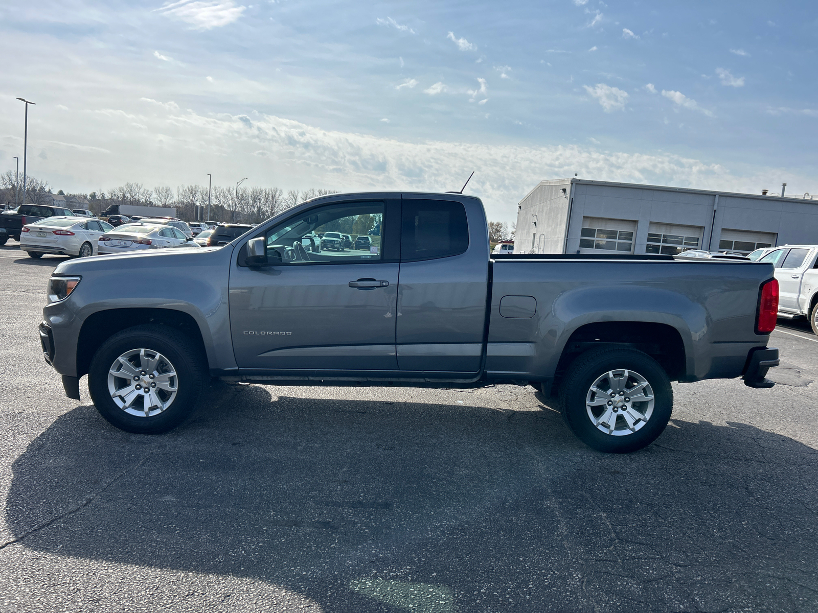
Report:
<svg viewBox="0 0 818 613"><path fill-rule="evenodd" d="M479 201L465 202L440 196L402 199L401 370L474 373L480 368L488 230Z"/></svg>

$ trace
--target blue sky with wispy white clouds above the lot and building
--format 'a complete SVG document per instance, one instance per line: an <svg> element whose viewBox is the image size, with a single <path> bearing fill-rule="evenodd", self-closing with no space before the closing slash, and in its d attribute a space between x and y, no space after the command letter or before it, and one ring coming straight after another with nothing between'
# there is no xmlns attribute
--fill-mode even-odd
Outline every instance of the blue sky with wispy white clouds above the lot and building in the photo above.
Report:
<svg viewBox="0 0 818 613"><path fill-rule="evenodd" d="M252 0L251 0L252 2ZM0 171L88 192L537 181L818 191L814 2L0 5Z"/></svg>

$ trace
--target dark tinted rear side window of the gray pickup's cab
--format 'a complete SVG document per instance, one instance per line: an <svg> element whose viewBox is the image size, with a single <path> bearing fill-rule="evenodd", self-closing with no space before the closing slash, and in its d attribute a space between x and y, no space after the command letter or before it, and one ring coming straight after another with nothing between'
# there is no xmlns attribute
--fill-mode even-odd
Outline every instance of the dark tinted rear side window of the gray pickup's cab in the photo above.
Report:
<svg viewBox="0 0 818 613"><path fill-rule="evenodd" d="M431 260L469 248L465 208L448 200L403 200L401 260Z"/></svg>

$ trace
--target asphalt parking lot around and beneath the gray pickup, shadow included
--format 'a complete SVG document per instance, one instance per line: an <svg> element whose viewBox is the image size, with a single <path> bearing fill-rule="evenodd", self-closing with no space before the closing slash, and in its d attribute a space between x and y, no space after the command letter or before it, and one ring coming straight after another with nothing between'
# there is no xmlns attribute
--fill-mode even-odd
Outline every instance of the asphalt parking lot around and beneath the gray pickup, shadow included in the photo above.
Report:
<svg viewBox="0 0 818 613"><path fill-rule="evenodd" d="M43 362L64 259L0 248L2 611L818 610L806 324L772 334L772 389L674 384L635 454L513 386L219 383L137 436Z"/></svg>

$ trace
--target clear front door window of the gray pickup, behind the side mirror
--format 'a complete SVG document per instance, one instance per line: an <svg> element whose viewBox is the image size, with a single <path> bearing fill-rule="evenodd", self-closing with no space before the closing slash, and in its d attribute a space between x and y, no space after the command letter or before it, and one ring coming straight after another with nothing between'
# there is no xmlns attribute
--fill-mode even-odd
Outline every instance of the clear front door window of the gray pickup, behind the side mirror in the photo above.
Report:
<svg viewBox="0 0 818 613"><path fill-rule="evenodd" d="M383 203L344 203L312 209L264 235L267 263L353 264L383 259ZM376 232L376 234L372 234ZM350 247L344 235L357 235Z"/></svg>

